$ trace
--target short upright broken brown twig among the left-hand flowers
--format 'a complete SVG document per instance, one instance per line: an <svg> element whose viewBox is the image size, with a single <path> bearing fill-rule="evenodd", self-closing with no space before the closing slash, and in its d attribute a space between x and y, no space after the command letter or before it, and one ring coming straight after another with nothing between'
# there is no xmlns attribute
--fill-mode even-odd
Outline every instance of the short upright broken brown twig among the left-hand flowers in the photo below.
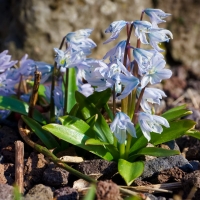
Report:
<svg viewBox="0 0 200 200"><path fill-rule="evenodd" d="M31 118L32 118L34 106L35 106L35 104L37 102L37 98L38 98L38 89L39 89L39 85L40 85L40 80L41 80L41 72L38 72L36 69L35 77L34 77L34 84L33 84L33 91L31 94L29 111L28 111L28 116Z"/></svg>

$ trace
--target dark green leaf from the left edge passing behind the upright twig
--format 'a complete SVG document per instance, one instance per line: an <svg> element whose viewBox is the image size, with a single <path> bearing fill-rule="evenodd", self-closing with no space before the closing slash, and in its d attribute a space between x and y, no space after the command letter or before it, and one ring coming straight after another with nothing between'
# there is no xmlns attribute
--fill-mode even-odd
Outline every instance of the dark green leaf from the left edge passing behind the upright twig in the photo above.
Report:
<svg viewBox="0 0 200 200"><path fill-rule="evenodd" d="M22 115L28 115L29 106L27 103L18 99L0 96L0 109L11 110ZM46 118L36 109L33 111L33 119L42 124L47 124Z"/></svg>

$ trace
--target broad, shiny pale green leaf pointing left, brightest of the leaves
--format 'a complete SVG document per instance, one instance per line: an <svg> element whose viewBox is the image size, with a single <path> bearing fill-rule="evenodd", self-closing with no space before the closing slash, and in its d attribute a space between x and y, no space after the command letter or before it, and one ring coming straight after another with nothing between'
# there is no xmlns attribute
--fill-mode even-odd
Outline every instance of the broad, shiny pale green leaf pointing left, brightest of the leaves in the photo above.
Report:
<svg viewBox="0 0 200 200"><path fill-rule="evenodd" d="M51 132L56 137L65 140L73 145L76 145L82 149L90 151L105 160L114 160L112 154L102 146L91 146L85 145L85 142L90 139L87 135L84 134L84 128L78 129L73 126L63 126L59 124L48 124L43 126L43 128Z"/></svg>

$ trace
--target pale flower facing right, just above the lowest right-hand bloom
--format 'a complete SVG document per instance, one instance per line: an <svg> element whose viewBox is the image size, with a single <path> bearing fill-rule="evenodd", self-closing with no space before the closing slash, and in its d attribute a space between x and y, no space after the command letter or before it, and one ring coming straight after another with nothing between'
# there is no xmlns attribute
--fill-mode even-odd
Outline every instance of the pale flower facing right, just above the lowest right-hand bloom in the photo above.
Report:
<svg viewBox="0 0 200 200"><path fill-rule="evenodd" d="M138 87L137 96L140 95L140 92L141 88ZM160 105L160 99L162 99L162 97L166 97L164 91L157 88L145 88L140 106L142 107L143 111L151 113L151 107L149 103Z"/></svg>

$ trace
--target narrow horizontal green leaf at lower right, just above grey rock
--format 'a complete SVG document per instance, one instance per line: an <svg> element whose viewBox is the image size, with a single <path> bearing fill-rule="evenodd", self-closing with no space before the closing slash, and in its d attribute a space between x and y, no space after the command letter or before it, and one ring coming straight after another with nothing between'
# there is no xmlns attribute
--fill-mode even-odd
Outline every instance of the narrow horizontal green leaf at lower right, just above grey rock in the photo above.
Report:
<svg viewBox="0 0 200 200"><path fill-rule="evenodd" d="M128 160L134 161L138 156L155 156L155 157L167 157L179 155L180 152L177 150L162 149L158 147L145 147L140 149L136 154L131 155Z"/></svg>

